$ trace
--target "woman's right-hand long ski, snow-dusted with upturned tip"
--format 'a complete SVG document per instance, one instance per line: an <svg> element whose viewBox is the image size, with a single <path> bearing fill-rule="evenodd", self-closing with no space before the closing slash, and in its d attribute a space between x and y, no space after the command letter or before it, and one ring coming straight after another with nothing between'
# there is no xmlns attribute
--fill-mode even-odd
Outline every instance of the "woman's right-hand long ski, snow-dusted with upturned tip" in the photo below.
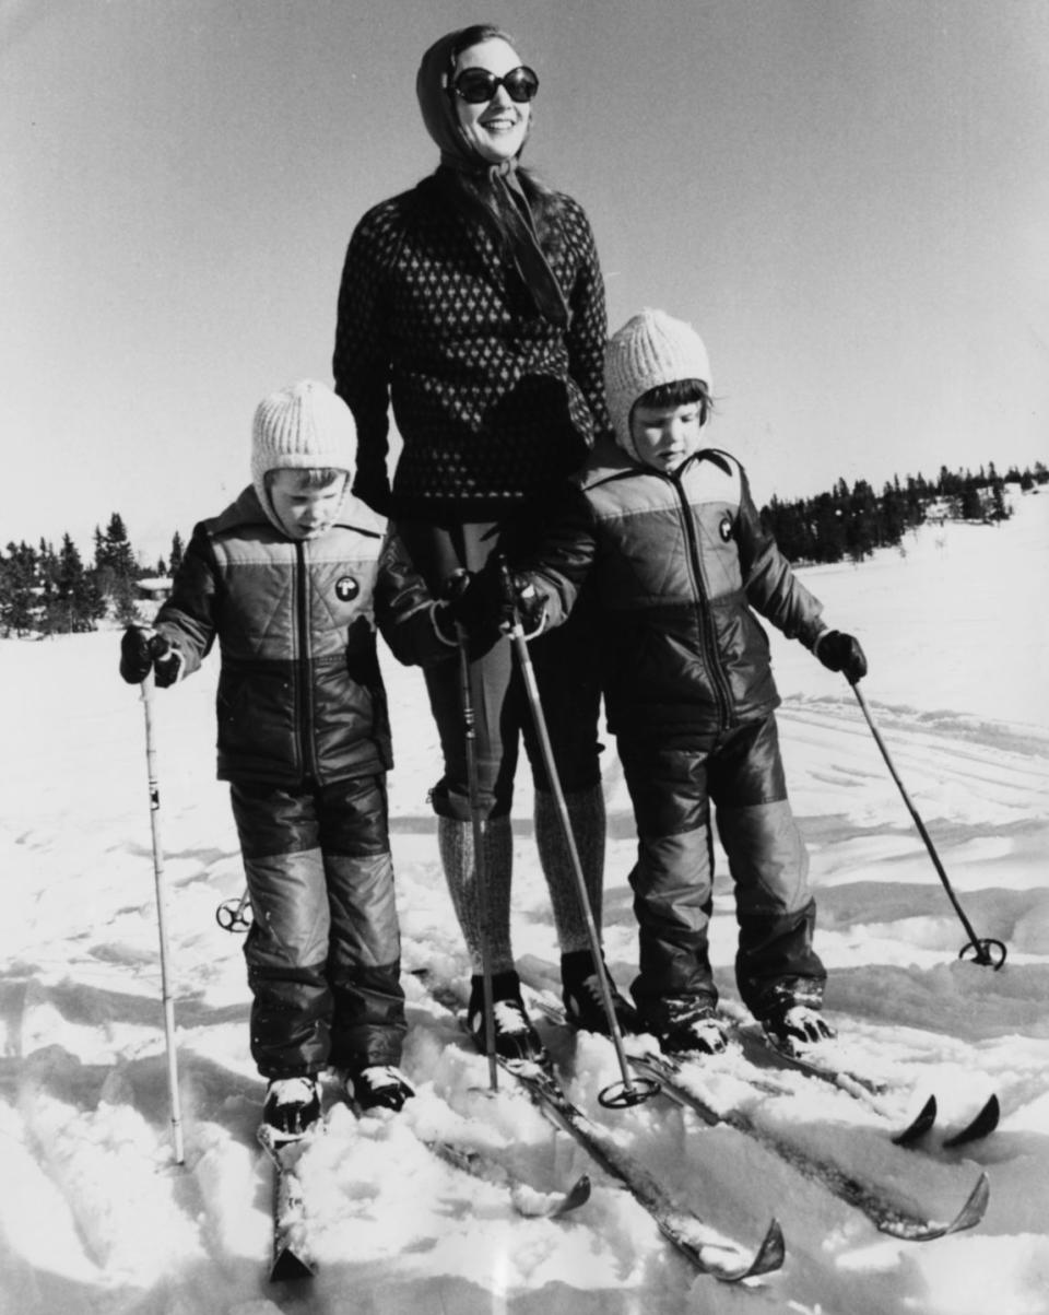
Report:
<svg viewBox="0 0 1049 1315"><path fill-rule="evenodd" d="M803 1177L822 1184L847 1205L860 1210L879 1232L891 1237L906 1241L932 1241L936 1237L945 1237L948 1233L973 1228L987 1208L990 1184L986 1173L979 1174L969 1197L952 1219L931 1219L919 1210L902 1205L877 1184L849 1173L829 1160L819 1160L774 1132L758 1127L744 1111L715 1110L689 1081L690 1061L665 1055L628 1056L628 1061L640 1077L660 1082L664 1093L677 1105L693 1110L707 1124L723 1123L753 1137Z"/></svg>

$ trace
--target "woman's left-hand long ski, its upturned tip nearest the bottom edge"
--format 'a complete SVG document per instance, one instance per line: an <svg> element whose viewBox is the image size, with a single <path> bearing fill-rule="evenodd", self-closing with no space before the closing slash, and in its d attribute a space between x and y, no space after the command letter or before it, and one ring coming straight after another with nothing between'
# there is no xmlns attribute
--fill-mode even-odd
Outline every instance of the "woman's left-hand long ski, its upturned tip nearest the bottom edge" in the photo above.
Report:
<svg viewBox="0 0 1049 1315"><path fill-rule="evenodd" d="M722 1282L768 1274L783 1264L785 1243L780 1223L773 1219L756 1251L714 1235L698 1215L676 1205L656 1178L615 1144L611 1134L594 1123L565 1095L553 1074L524 1060L500 1059L549 1122L572 1136L590 1159L617 1178L655 1220L664 1237L697 1269Z"/></svg>

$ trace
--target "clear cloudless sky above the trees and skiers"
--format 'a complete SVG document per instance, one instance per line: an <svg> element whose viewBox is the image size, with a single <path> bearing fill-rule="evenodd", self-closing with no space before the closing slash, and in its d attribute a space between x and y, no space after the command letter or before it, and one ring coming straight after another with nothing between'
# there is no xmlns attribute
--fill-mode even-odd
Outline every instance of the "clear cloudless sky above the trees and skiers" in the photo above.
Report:
<svg viewBox="0 0 1049 1315"><path fill-rule="evenodd" d="M699 329L760 501L1049 460L1046 0L0 0L0 544L120 512L155 556L239 492L481 18L611 326Z"/></svg>

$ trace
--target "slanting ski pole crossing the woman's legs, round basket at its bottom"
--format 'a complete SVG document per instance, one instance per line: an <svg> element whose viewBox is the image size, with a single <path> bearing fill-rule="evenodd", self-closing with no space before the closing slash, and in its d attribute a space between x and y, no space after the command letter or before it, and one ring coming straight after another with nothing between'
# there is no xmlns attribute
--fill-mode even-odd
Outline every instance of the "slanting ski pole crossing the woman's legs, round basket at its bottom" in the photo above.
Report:
<svg viewBox="0 0 1049 1315"><path fill-rule="evenodd" d="M561 831L564 832L565 844L568 846L572 876L576 881L576 894L578 896L580 909L582 910L584 922L586 923L586 936L590 942L590 953L594 960L594 969L601 988L601 1003L609 1022L609 1035L611 1036L613 1045L615 1047L615 1057L619 1063L619 1073L622 1076L620 1082L614 1082L611 1086L606 1086L603 1091L598 1093L598 1101L606 1109L627 1109L634 1105L640 1105L643 1101L648 1101L651 1097L656 1095L660 1090L660 1085L649 1078L631 1077L626 1052L623 1049L623 1034L619 1028L619 1019L615 1016L615 1005L613 1003L611 988L609 986L609 974L605 970L605 956L601 952L601 936L598 935L597 923L594 922L594 910L590 905L590 897L586 893L586 878L582 874L582 863L580 861L580 852L576 847L576 836L572 831L572 819L568 815L568 803L565 802L564 790L561 789L561 778L557 773L557 764L553 759L553 746L551 744L549 731L547 730L547 718L543 713L543 704L539 698L539 686L535 681L535 668L532 667L531 655L528 654L528 642L524 638L524 627L521 623L521 610L517 605L514 586L505 558L500 560L500 571L502 573L503 598L507 602L511 614L509 631L510 640L518 658L522 679L524 680L524 693L528 700L532 723L535 725L535 734L543 755L543 765L547 769L551 793L553 794L553 800L557 805Z"/></svg>

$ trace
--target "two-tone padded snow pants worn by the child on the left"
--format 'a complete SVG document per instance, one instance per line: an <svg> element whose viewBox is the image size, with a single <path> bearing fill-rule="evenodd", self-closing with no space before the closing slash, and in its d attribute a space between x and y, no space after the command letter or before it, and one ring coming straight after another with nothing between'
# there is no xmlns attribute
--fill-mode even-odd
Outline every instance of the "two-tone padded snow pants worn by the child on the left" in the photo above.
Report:
<svg viewBox="0 0 1049 1315"><path fill-rule="evenodd" d="M384 776L230 786L254 914L245 942L263 1077L397 1064L406 1030Z"/></svg>

